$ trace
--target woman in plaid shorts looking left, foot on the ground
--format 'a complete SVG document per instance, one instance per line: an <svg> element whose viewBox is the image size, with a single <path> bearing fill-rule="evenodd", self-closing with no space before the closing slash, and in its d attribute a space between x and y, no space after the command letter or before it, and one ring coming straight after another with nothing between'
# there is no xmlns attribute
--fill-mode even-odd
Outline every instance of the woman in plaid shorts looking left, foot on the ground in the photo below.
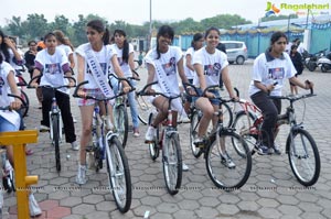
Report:
<svg viewBox="0 0 331 219"><path fill-rule="evenodd" d="M105 97L105 92L113 92L110 87L107 86L99 87L98 81L95 77L99 76L103 78L105 84L108 85L108 75L109 73L116 73L118 77L124 77L124 74L120 69L120 66L117 61L116 51L108 45L109 44L109 31L105 28L100 20L92 20L87 23L86 34L88 39L88 43L79 45L76 50L77 55L77 83L83 83L88 80L88 84L84 85L78 90L78 96L86 97L96 96L96 97ZM94 62L95 65L90 67L88 63ZM100 69L102 73L98 69ZM93 68L94 67L94 68ZM130 86L122 81L124 91L128 92L130 90ZM106 89L106 90L105 90ZM86 184L86 153L85 149L90 141L90 127L93 119L93 111L95 100L92 99L79 99L78 106L81 110L81 119L82 119L82 135L81 135L81 151L79 151L79 165L78 173L76 176L76 183L79 185ZM100 112L104 113L105 107L103 103L99 103ZM111 107L108 105L108 122L113 121L111 119ZM110 121L109 121L110 120ZM110 125L110 124L109 124Z"/></svg>

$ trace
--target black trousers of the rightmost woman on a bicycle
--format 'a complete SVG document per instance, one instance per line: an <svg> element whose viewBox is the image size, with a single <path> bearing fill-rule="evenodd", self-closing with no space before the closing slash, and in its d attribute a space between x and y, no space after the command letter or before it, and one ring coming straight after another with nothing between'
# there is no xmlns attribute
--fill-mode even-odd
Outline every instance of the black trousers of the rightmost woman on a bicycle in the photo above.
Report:
<svg viewBox="0 0 331 219"><path fill-rule="evenodd" d="M256 92L250 96L253 102L261 110L264 123L261 125L263 144L271 147L275 141L275 125L277 116L281 111L280 99L270 99L264 91Z"/></svg>

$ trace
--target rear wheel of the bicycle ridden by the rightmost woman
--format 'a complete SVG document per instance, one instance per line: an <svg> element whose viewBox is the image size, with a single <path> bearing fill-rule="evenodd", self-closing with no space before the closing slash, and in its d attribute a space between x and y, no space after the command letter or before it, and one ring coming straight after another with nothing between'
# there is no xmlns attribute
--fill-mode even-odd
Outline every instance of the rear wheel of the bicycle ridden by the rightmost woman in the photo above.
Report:
<svg viewBox="0 0 331 219"><path fill-rule="evenodd" d="M257 134L253 134L250 132L254 121L255 116L252 112L248 112L248 114L246 114L245 111L238 111L232 124L232 128L235 129L235 132L238 133L246 141L252 155L255 153L254 149L257 143ZM241 151L241 146L236 146L236 141L233 141L233 144L235 146L235 150L237 150L237 153L246 153L245 151Z"/></svg>

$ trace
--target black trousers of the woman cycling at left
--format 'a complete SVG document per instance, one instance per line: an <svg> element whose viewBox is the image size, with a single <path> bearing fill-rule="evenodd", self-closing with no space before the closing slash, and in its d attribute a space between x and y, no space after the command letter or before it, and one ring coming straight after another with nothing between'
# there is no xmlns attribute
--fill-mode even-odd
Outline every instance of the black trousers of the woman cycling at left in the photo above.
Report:
<svg viewBox="0 0 331 219"><path fill-rule="evenodd" d="M43 91L43 101L42 101L42 110L43 110L43 120L41 124L50 127L50 110L52 105L52 99L55 95L56 102L61 110L65 141L72 143L76 141L75 127L73 121L73 116L71 111L71 101L70 96L67 94L61 91L53 91L51 88L42 88Z"/></svg>

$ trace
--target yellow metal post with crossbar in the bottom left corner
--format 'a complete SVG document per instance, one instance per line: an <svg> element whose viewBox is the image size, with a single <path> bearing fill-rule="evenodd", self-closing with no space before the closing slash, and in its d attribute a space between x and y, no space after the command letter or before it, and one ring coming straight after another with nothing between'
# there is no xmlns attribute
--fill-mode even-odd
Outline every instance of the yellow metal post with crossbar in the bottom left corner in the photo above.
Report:
<svg viewBox="0 0 331 219"><path fill-rule="evenodd" d="M24 145L38 142L36 130L0 133L0 145L13 146L13 160L15 172L15 188L18 218L26 219L29 215L29 186L38 183L38 176L26 176L26 157Z"/></svg>

